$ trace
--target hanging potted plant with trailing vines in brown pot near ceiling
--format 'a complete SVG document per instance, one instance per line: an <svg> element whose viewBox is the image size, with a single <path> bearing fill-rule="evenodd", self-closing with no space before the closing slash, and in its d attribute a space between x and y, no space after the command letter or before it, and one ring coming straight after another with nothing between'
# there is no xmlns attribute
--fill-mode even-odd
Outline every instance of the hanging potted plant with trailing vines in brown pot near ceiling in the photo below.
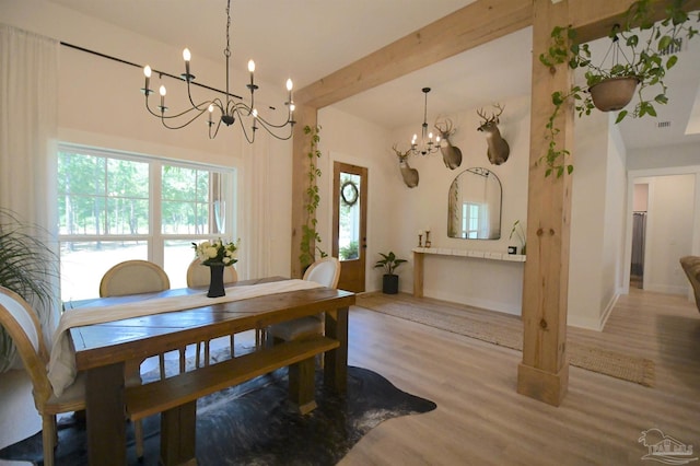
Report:
<svg viewBox="0 0 700 466"><path fill-rule="evenodd" d="M556 119L564 104L572 101L579 117L590 115L594 108L603 112L621 110L615 121L617 124L627 116L655 117L654 105L668 102L664 78L678 61L673 49L680 45L684 36L690 39L698 33L688 24L690 15L682 10L684 3L684 0L672 2L666 8L665 19L654 22L652 1L634 1L621 24L616 24L610 30L612 44L608 51L608 55L611 54L609 65L595 65L591 59L588 44L579 44L576 32L571 26L557 26L552 30L551 46L546 54L539 56L540 62L550 68L568 63L571 69L583 69L586 83L575 84L568 91L558 91L551 95L553 112L546 125L549 147L547 154L540 158L547 166L545 176L556 173L559 177L564 171L569 174L573 172L573 165L564 160L569 151L558 149L556 141L560 131L556 127ZM621 49L620 43L629 55ZM622 61L619 56L622 56ZM632 100L634 92L638 96L634 108L622 109Z"/></svg>

